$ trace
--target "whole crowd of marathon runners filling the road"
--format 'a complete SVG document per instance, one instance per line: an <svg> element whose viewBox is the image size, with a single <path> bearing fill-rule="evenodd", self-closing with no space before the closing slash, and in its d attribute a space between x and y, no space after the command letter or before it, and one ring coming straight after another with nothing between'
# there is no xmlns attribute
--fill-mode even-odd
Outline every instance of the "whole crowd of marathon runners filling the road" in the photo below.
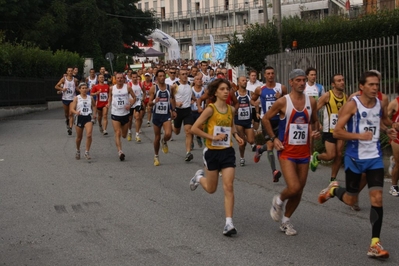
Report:
<svg viewBox="0 0 399 266"><path fill-rule="evenodd" d="M226 68L211 67L206 61L129 69L113 75L101 67L98 73L91 69L85 80L68 68L55 88L62 94L67 134L72 134L75 125L76 159L81 158L84 131L84 157L91 159L96 121L103 135L108 135L108 121L111 122L121 161L125 160L121 138L139 143L141 127L152 126L154 166L160 165L159 150L168 153L172 135L183 131L182 153L185 152L186 162L193 160L194 143L204 148L204 169L190 180L190 189L201 185L206 192L214 193L218 180L223 182L226 236L237 234L232 220L236 167L233 139L238 143L240 166L246 164L248 143L255 163L266 154L273 182L284 178L286 186L274 196L270 215L280 223L281 231L290 236L297 234L291 217L301 201L309 168L316 171L321 161L332 161L328 186L320 192L318 202L324 204L336 197L358 211L358 195L367 184L372 225L367 255L389 257L380 242L384 184L380 132L391 139L393 161L399 162L399 97L389 102L379 91L380 73L364 72L359 79L359 91L350 96L345 92L343 75L334 74L326 91L316 83L315 68L292 70L289 86L276 82L275 70L270 66L263 73L265 83L258 80L255 70L233 82L227 75ZM256 143L257 135L262 136L264 143ZM322 153L313 147L319 138L325 147ZM281 169L277 168L276 156ZM336 180L342 164L345 187ZM396 163L389 190L396 197L398 176Z"/></svg>

